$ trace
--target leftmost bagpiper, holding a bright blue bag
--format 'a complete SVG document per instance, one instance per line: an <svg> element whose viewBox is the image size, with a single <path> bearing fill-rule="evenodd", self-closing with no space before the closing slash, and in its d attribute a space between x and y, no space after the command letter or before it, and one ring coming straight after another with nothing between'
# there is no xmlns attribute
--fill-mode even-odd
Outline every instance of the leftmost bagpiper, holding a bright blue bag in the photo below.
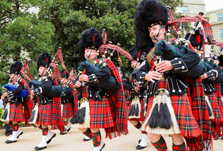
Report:
<svg viewBox="0 0 223 151"><path fill-rule="evenodd" d="M5 100L5 112L2 116L2 120L6 123L11 122L10 127L12 128L12 137L9 138L5 143L17 142L20 135L23 134L22 130L19 130L19 123L28 121L30 114L26 106L28 102L28 91L27 83L20 76L20 70L22 69L22 63L16 61L10 67L10 80L8 84L3 86L4 92L2 93L1 99ZM23 109L24 108L24 109Z"/></svg>

